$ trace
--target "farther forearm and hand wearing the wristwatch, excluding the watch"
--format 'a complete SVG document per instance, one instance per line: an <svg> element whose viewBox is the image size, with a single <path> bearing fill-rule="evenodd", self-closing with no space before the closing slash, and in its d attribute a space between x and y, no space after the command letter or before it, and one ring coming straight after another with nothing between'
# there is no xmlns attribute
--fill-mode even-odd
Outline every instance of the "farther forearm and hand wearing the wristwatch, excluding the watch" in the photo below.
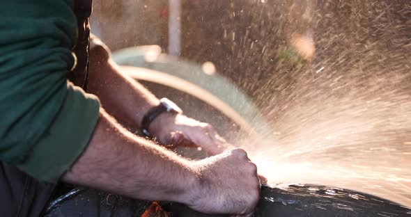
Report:
<svg viewBox="0 0 411 217"><path fill-rule="evenodd" d="M95 44L98 41L93 40ZM100 44L90 53L88 91L97 95L106 111L129 127L141 129L141 120L160 101L140 83L124 74L109 60L108 49ZM161 144L197 145L209 154L233 149L212 126L184 115L162 113L150 124L148 131Z"/></svg>

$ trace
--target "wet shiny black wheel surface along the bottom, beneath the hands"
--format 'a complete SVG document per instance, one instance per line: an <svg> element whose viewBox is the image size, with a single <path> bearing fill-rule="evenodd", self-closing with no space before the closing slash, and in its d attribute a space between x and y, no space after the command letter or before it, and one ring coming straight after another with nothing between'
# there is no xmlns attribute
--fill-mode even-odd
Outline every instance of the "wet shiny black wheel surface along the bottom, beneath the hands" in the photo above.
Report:
<svg viewBox="0 0 411 217"><path fill-rule="evenodd" d="M141 216L152 204L150 201L132 200L91 189L76 188L70 193L63 195L63 200L52 202L45 216ZM201 214L173 202L159 204L167 216L224 216ZM355 191L304 185L287 188L263 187L254 216L396 217L411 216L411 209Z"/></svg>

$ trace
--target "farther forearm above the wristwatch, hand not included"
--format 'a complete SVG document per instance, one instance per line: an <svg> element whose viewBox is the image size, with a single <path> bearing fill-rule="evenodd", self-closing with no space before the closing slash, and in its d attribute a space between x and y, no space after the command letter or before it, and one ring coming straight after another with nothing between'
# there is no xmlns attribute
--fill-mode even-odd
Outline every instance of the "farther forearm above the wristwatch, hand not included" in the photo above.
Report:
<svg viewBox="0 0 411 217"><path fill-rule="evenodd" d="M146 112L159 100L140 83L127 77L109 59L103 47L91 51L88 92L97 95L104 109L130 127L141 127Z"/></svg>

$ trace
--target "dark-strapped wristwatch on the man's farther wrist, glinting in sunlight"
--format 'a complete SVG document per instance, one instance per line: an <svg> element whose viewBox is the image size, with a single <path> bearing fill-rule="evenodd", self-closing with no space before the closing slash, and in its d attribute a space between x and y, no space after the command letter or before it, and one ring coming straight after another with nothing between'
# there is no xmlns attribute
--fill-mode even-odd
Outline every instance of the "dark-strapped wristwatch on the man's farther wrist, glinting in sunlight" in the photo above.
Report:
<svg viewBox="0 0 411 217"><path fill-rule="evenodd" d="M151 137L148 127L150 127L151 122L153 122L155 118L162 113L182 114L183 111L170 99L160 99L160 104L148 110L146 115L144 115L143 120L141 121L141 133L145 136Z"/></svg>

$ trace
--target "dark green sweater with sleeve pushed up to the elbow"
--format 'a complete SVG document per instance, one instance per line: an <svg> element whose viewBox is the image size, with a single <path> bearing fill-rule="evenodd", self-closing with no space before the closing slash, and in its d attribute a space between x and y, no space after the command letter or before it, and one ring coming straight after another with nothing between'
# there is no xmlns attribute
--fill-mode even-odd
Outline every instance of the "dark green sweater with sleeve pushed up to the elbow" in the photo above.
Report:
<svg viewBox="0 0 411 217"><path fill-rule="evenodd" d="M75 65L72 0L0 1L0 160L57 182L88 144L98 98L65 79Z"/></svg>

